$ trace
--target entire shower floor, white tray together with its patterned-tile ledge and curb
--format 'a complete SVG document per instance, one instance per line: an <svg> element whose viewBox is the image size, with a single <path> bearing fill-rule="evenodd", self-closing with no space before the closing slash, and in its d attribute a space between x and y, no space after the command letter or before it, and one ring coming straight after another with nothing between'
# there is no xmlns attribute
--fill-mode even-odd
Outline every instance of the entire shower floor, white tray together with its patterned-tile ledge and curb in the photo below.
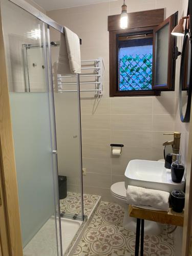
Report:
<svg viewBox="0 0 192 256"><path fill-rule="evenodd" d="M60 200L61 211L79 214L79 209L81 209L79 195L80 194L69 192L66 199ZM73 255L83 236L84 230L86 230L88 224L92 220L100 200L100 196L89 194L83 195L84 214L87 216L87 219L84 222L61 218L63 255ZM75 207L74 209L71 208L71 202L76 206L79 205L79 207ZM57 256L56 246L55 218L51 217L26 245L24 248L24 256Z"/></svg>

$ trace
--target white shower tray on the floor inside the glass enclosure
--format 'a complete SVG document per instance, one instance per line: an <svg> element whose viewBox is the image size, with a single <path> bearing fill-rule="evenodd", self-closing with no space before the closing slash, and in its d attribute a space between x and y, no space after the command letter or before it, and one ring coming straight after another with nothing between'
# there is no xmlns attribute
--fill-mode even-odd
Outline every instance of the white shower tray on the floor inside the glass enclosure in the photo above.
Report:
<svg viewBox="0 0 192 256"><path fill-rule="evenodd" d="M63 254L74 239L82 221L61 218ZM64 231L65 230L65 231ZM24 248L24 256L56 256L55 218L51 217Z"/></svg>

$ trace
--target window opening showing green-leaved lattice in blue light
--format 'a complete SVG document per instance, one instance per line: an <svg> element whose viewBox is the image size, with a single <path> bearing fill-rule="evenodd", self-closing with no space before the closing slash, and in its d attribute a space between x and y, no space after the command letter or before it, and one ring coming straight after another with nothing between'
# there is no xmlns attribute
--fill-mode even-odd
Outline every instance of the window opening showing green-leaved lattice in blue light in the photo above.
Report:
<svg viewBox="0 0 192 256"><path fill-rule="evenodd" d="M152 90L153 38L119 42L119 91Z"/></svg>

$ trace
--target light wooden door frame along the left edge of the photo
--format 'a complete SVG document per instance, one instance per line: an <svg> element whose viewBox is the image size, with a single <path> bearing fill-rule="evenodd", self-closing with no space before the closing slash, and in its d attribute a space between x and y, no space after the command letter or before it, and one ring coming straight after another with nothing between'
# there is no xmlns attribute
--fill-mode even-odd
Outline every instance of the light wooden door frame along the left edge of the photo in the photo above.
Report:
<svg viewBox="0 0 192 256"><path fill-rule="evenodd" d="M1 4L0 63L0 176L2 179L0 187L3 197L3 206L0 206L3 207L0 223L5 224L4 228L0 225L0 234L1 240L6 241L5 243L1 241L1 249L3 256L23 256Z"/></svg>

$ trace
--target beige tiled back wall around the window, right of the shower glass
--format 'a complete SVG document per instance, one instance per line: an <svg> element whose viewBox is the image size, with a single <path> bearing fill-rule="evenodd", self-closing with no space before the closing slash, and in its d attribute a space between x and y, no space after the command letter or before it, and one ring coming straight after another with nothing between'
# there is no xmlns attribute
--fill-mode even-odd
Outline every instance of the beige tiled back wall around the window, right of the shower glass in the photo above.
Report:
<svg viewBox="0 0 192 256"><path fill-rule="evenodd" d="M176 92L160 97L109 97L108 15L119 14L122 1L49 11L58 23L82 38L82 59L104 58L104 94L100 102L91 93L81 93L82 154L85 193L101 195L111 201L110 186L124 180L131 159L163 158L162 143L174 131ZM128 12L165 8L165 16L178 11L180 0L135 0L127 3ZM122 143L122 155L112 156L110 143Z"/></svg>

